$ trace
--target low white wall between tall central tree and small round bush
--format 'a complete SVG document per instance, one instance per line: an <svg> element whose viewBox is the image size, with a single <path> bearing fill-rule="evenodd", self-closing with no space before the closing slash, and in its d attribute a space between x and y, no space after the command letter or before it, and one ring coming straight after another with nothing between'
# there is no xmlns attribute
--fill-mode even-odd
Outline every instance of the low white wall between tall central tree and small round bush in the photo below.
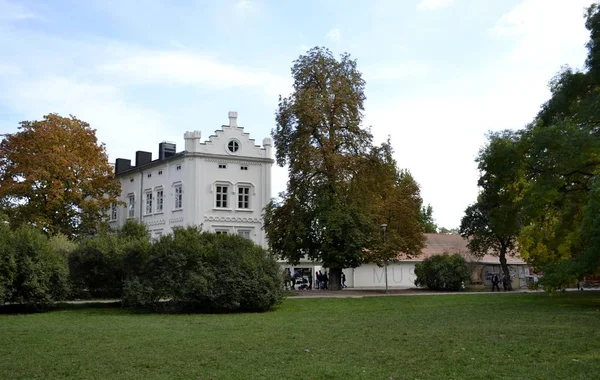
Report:
<svg viewBox="0 0 600 380"><path fill-rule="evenodd" d="M388 287L414 288L415 263L390 264L388 270ZM346 278L348 278L346 273ZM385 288L385 268L375 264L365 264L354 269L352 287L354 288ZM347 284L351 287L350 283Z"/></svg>

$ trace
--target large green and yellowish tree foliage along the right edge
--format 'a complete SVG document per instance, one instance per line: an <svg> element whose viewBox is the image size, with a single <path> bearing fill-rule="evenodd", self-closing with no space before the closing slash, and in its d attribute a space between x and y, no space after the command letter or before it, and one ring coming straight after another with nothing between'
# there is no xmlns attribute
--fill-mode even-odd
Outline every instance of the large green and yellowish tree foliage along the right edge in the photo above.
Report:
<svg viewBox="0 0 600 380"><path fill-rule="evenodd" d="M532 265L549 265L544 269L544 277L546 270L552 274L547 283L559 284L561 277L574 280L582 275L575 272L593 273L600 264L594 259L600 252L600 241L594 236L600 230L589 212L596 208L594 186L600 172L598 4L588 9L586 18L587 71L566 67L553 78L551 98L523 131L520 142L527 185L518 242L522 256Z"/></svg>

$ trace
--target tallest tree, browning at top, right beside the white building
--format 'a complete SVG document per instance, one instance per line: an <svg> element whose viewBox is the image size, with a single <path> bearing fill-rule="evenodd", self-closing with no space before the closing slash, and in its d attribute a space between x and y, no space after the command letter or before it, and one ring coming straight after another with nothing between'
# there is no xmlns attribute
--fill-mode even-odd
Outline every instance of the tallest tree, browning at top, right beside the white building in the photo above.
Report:
<svg viewBox="0 0 600 380"><path fill-rule="evenodd" d="M292 263L321 261L339 289L342 268L362 264L382 241L381 201L402 187L394 163L382 158L390 150L374 149L361 128L365 82L356 61L313 48L294 62L292 76L294 92L280 97L273 131L289 181L265 209L265 231L275 254ZM373 172L386 177L370 180Z"/></svg>

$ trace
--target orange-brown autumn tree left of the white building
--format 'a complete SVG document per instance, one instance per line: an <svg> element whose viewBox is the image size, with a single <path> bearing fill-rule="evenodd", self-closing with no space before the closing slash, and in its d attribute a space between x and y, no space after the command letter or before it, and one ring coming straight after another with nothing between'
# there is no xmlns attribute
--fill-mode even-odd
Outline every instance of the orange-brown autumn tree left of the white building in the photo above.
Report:
<svg viewBox="0 0 600 380"><path fill-rule="evenodd" d="M20 125L0 143L0 208L11 224L69 237L95 231L120 193L96 131L53 113Z"/></svg>

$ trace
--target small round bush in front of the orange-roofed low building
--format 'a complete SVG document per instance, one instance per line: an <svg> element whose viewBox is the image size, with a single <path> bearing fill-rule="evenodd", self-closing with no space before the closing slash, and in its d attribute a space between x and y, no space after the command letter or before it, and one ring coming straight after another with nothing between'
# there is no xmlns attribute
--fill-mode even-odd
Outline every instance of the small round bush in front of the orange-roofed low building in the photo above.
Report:
<svg viewBox="0 0 600 380"><path fill-rule="evenodd" d="M458 253L431 256L415 265L416 286L431 290L461 290L471 280L471 269Z"/></svg>

